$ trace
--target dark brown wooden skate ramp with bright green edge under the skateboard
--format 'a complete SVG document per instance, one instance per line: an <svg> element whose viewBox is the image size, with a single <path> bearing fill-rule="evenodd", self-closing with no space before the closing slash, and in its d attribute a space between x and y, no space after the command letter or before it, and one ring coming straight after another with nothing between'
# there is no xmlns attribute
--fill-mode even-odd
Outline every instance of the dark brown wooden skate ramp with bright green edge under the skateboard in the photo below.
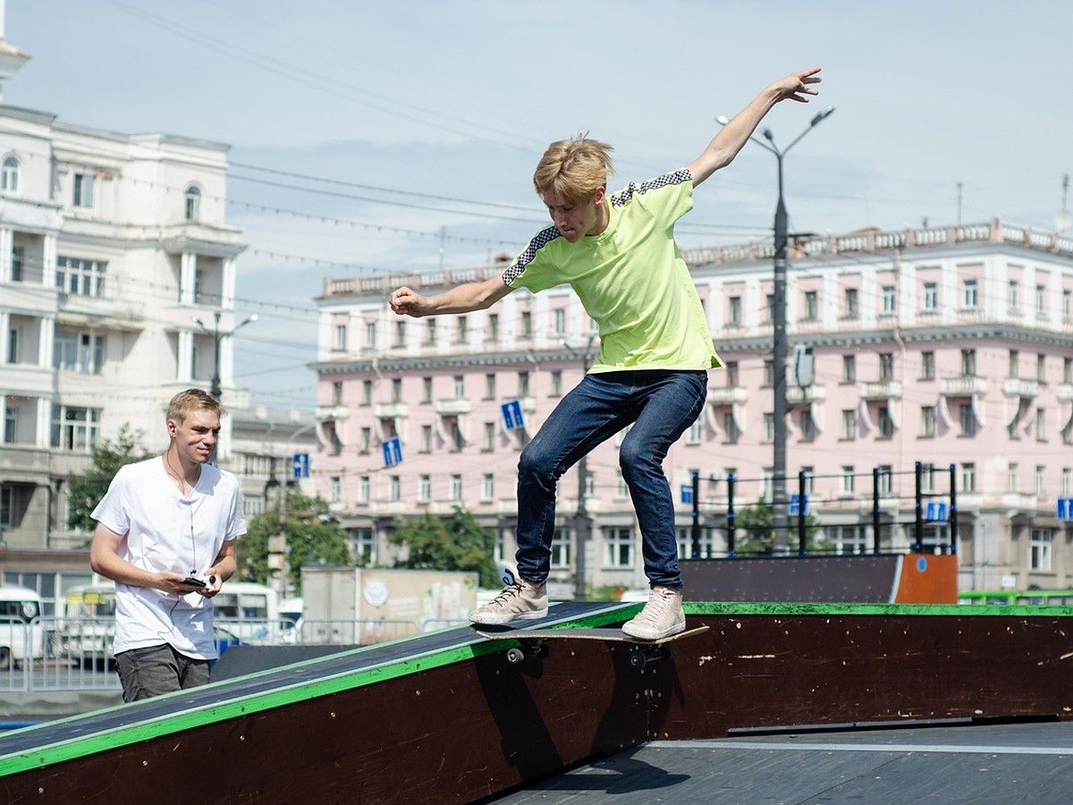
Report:
<svg viewBox="0 0 1073 805"><path fill-rule="evenodd" d="M623 623L564 603L533 627ZM1073 610L694 603L674 657L460 627L0 738L5 802L460 803L652 741L1073 714ZM569 646L569 649L568 649ZM206 788L210 787L210 788Z"/></svg>

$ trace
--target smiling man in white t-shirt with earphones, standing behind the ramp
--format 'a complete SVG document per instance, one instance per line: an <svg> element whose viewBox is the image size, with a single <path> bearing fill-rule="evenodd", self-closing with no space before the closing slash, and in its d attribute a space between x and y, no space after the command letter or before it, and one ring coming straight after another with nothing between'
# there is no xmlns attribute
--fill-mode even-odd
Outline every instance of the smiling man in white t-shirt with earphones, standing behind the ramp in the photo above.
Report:
<svg viewBox="0 0 1073 805"><path fill-rule="evenodd" d="M162 456L116 473L93 510L93 571L116 582L116 671L123 701L204 685L217 658L212 597L235 573L242 495L208 464L223 406L200 389L167 407Z"/></svg>

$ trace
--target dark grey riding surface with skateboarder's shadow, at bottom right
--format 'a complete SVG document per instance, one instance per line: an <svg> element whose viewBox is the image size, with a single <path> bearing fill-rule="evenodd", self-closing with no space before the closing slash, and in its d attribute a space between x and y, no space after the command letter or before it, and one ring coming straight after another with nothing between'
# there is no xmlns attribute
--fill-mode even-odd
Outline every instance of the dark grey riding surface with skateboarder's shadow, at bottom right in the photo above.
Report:
<svg viewBox="0 0 1073 805"><path fill-rule="evenodd" d="M1068 805L1073 722L657 742L489 802Z"/></svg>

